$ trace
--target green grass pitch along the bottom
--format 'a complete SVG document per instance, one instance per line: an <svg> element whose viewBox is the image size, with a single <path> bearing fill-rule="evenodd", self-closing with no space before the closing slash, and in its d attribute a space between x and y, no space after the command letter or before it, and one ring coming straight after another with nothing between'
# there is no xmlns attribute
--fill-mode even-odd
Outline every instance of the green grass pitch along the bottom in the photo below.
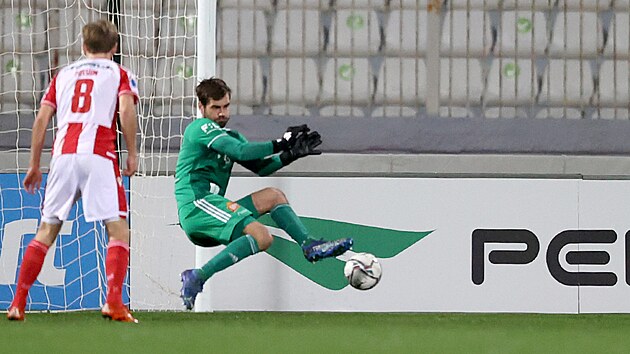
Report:
<svg viewBox="0 0 630 354"><path fill-rule="evenodd" d="M630 315L319 312L29 313L13 353L627 353Z"/></svg>

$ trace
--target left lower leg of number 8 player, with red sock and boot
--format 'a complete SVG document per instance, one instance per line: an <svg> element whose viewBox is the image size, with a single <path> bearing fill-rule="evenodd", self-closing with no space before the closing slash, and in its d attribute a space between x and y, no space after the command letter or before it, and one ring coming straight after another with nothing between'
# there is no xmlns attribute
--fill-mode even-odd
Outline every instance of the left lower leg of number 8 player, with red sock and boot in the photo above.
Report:
<svg viewBox="0 0 630 354"><path fill-rule="evenodd" d="M61 222L56 224L42 222L35 238L28 244L20 266L15 297L7 313L9 320L24 320L28 291L41 272L48 248L55 242L60 230Z"/></svg>

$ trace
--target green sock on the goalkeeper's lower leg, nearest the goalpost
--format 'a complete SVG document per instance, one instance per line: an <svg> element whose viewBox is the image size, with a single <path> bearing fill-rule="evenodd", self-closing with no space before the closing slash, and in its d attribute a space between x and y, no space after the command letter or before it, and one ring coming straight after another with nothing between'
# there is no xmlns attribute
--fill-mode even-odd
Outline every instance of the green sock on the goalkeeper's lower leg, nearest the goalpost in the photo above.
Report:
<svg viewBox="0 0 630 354"><path fill-rule="evenodd" d="M199 274L204 281L210 279L216 272L235 264L243 258L260 252L258 242L251 236L245 235L230 242L221 252L214 256L208 263L199 269Z"/></svg>

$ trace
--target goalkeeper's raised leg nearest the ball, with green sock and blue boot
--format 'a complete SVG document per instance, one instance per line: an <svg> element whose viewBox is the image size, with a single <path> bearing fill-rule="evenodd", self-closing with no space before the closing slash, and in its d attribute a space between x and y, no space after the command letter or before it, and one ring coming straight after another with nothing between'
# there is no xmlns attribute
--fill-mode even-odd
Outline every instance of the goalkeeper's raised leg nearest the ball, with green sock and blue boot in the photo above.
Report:
<svg viewBox="0 0 630 354"><path fill-rule="evenodd" d="M262 189L240 199L237 203L255 210L258 215L269 213L273 221L302 247L304 257L310 262L339 256L352 247L352 238L333 241L310 238L308 229L289 205L287 197L277 188Z"/></svg>

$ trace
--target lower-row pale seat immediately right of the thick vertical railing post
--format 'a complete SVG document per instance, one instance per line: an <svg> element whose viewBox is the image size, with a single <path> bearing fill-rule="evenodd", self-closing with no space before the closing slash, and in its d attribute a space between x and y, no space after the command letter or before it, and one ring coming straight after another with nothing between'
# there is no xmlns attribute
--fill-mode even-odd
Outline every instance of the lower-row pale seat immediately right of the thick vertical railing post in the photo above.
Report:
<svg viewBox="0 0 630 354"><path fill-rule="evenodd" d="M483 80L478 60L466 58L441 60L440 106L479 107L482 93ZM461 116L461 113L458 115Z"/></svg>

